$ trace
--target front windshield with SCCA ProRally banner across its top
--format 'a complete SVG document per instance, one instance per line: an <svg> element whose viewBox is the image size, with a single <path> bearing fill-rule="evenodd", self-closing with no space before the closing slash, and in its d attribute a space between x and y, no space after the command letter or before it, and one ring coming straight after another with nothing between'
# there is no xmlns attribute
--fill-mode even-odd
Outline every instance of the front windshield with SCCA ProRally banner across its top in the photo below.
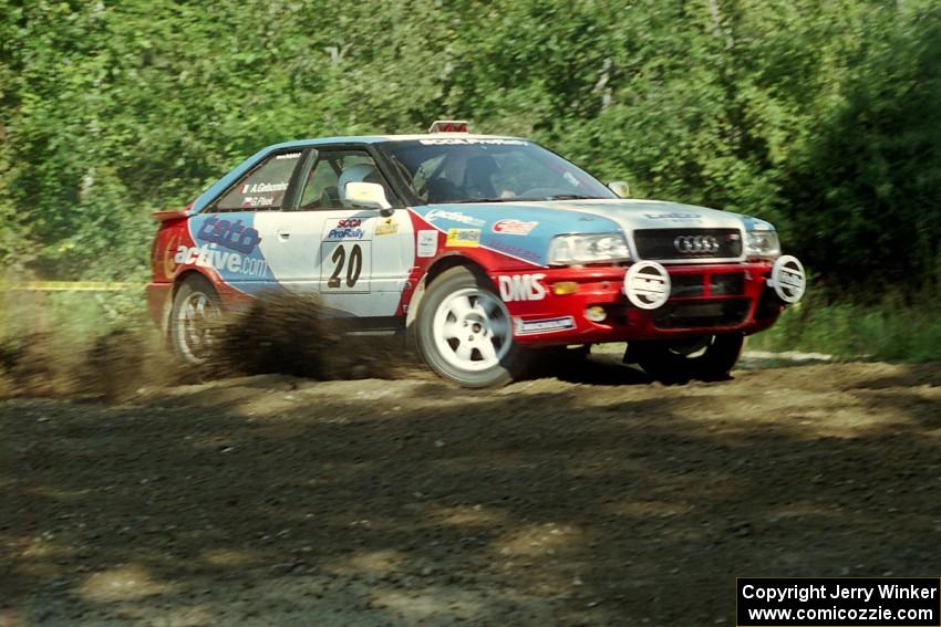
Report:
<svg viewBox="0 0 941 627"><path fill-rule="evenodd" d="M523 139L430 137L380 147L427 203L617 198L585 170Z"/></svg>

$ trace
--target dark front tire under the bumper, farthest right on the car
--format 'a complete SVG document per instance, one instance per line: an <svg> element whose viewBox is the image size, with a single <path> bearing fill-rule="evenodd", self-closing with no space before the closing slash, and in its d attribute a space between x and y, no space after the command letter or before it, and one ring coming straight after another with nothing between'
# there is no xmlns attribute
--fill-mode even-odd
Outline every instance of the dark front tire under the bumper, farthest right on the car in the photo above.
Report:
<svg viewBox="0 0 941 627"><path fill-rule="evenodd" d="M637 362L651 378L665 384L690 379L727 380L742 355L741 333L706 335L683 342L631 342L625 362Z"/></svg>

